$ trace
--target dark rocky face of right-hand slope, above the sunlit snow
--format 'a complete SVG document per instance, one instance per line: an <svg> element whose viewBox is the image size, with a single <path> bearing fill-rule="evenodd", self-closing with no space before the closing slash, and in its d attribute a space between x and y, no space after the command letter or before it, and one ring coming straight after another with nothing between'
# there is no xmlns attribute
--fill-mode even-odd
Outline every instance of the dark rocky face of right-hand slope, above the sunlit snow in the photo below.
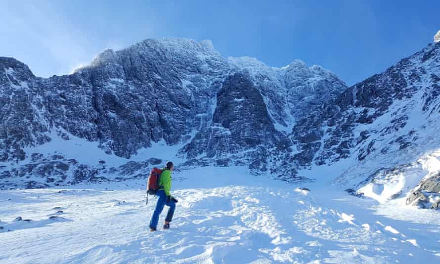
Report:
<svg viewBox="0 0 440 264"><path fill-rule="evenodd" d="M292 131L294 159L300 166L363 161L417 146L437 125L439 61L440 45L430 44L313 109Z"/></svg>

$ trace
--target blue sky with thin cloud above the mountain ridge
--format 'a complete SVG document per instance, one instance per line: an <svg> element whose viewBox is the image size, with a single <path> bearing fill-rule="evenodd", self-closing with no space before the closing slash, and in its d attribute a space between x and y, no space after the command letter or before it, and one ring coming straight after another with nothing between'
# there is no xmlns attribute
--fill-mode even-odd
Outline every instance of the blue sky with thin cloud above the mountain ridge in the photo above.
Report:
<svg viewBox="0 0 440 264"><path fill-rule="evenodd" d="M432 43L439 10L438 0L1 1L0 56L48 77L147 38L209 39L225 57L301 59L352 85Z"/></svg>

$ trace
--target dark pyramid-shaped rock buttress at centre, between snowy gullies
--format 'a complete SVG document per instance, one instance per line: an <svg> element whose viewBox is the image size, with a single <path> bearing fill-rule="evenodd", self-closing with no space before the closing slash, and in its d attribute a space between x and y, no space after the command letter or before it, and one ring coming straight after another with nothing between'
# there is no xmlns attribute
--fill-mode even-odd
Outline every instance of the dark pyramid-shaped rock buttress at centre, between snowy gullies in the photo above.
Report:
<svg viewBox="0 0 440 264"><path fill-rule="evenodd" d="M274 147L283 141L288 144L287 138L275 130L257 87L248 75L237 73L228 77L217 93L213 125L198 132L182 152L188 158L202 154L222 158L261 145Z"/></svg>

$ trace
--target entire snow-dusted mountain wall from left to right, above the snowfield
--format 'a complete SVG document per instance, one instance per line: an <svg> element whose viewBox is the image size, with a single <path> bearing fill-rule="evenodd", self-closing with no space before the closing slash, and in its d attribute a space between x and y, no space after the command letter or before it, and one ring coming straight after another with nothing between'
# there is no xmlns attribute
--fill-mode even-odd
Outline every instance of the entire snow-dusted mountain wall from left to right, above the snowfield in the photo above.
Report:
<svg viewBox="0 0 440 264"><path fill-rule="evenodd" d="M48 79L0 58L0 187L144 178L172 159L439 208L437 39L352 87L188 39L105 50Z"/></svg>

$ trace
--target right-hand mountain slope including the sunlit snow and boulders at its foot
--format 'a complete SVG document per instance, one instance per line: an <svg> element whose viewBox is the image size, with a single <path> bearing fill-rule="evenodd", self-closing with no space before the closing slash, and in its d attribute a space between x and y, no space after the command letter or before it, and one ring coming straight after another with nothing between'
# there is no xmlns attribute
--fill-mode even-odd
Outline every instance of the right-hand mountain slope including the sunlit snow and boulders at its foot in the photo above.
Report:
<svg viewBox="0 0 440 264"><path fill-rule="evenodd" d="M333 183L386 202L439 208L440 43L342 92L298 122L301 167L337 166Z"/></svg>

